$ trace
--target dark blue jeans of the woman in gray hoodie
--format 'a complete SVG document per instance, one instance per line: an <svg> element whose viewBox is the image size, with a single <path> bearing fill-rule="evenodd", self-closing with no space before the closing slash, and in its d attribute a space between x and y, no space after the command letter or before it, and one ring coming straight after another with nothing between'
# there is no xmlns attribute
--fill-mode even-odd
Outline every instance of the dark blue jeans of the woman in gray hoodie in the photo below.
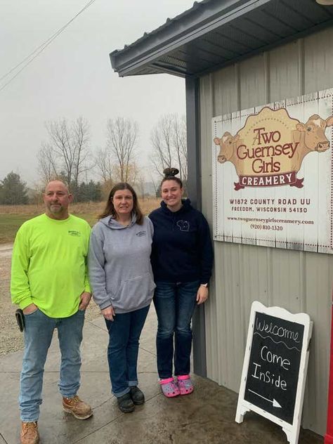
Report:
<svg viewBox="0 0 333 444"><path fill-rule="evenodd" d="M119 313L114 320L105 319L109 332L107 361L109 363L112 393L119 398L129 393L130 387L138 385L136 366L141 331L149 307L129 313Z"/></svg>

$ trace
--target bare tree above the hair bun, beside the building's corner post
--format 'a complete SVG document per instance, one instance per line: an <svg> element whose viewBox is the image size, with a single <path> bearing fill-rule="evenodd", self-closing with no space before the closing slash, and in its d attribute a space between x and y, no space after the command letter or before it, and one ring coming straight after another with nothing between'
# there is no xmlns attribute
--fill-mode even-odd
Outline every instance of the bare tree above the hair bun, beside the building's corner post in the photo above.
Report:
<svg viewBox="0 0 333 444"><path fill-rule="evenodd" d="M164 115L152 129L153 168L163 176L163 170L175 166L180 171L182 180L187 178L187 149L185 117L176 114Z"/></svg>

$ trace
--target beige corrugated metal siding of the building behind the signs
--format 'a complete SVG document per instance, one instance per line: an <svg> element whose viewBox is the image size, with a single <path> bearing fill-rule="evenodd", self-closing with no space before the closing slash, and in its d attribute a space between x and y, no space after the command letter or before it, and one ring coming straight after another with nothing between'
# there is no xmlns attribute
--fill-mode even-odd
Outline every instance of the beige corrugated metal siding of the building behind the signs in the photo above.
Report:
<svg viewBox="0 0 333 444"><path fill-rule="evenodd" d="M332 87L332 41L329 28L200 79L202 210L211 226L211 118ZM239 390L252 301L308 313L314 329L302 425L323 435L333 256L227 242L214 242L214 254L205 306L208 377Z"/></svg>

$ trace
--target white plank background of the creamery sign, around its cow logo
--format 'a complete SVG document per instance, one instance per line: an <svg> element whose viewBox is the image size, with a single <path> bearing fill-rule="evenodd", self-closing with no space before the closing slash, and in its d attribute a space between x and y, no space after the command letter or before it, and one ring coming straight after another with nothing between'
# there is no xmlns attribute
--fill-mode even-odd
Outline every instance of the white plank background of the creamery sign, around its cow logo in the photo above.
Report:
<svg viewBox="0 0 333 444"><path fill-rule="evenodd" d="M249 119L268 108L275 113L285 110L290 119L294 119L294 125L296 122L306 124L311 115L325 119L333 115L333 89L213 117L214 240L333 254L333 126L325 129L329 148L325 152L310 152L301 161L296 171L299 187L245 185L237 188L235 185L240 185L242 176L236 171L236 156L218 160L223 150L216 145L216 140L222 141L226 134L235 139L250 126ZM252 149L252 145L247 146ZM272 162L280 158L271 157Z"/></svg>

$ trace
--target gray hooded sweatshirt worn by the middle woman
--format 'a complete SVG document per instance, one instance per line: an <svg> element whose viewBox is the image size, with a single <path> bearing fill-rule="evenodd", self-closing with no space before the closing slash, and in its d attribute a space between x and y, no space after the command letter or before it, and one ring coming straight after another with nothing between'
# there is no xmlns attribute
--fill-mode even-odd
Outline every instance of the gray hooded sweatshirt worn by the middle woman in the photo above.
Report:
<svg viewBox="0 0 333 444"><path fill-rule="evenodd" d="M93 227L89 245L89 279L93 299L101 310L128 313L148 306L154 294L150 252L154 228L147 217L143 225L132 217L122 226L107 216Z"/></svg>

